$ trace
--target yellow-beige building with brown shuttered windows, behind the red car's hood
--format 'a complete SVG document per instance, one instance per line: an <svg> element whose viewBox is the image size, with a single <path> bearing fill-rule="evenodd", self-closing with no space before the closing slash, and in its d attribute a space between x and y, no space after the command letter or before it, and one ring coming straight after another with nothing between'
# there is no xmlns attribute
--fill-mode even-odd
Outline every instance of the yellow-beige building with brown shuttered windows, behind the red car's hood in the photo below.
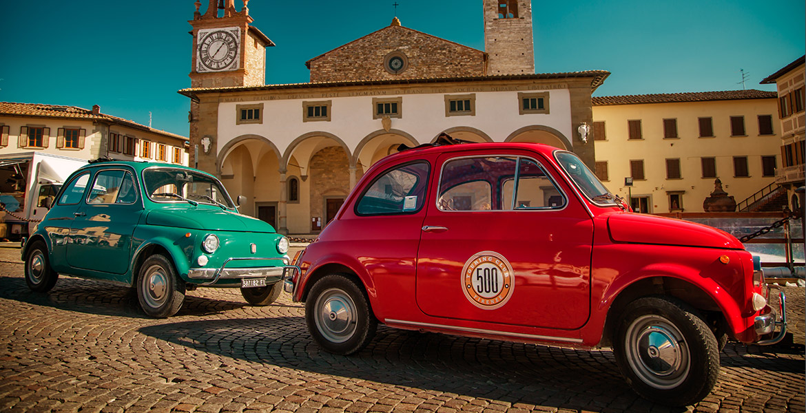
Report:
<svg viewBox="0 0 806 413"><path fill-rule="evenodd" d="M744 209L781 165L776 97L759 90L593 97L596 174L643 213L703 212L717 178Z"/></svg>

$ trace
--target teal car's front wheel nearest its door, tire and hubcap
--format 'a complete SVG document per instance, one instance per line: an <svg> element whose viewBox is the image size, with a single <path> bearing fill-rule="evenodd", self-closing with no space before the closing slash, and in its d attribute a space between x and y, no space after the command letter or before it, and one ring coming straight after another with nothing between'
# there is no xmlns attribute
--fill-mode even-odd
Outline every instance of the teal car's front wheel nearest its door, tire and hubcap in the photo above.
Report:
<svg viewBox="0 0 806 413"><path fill-rule="evenodd" d="M148 316L165 318L176 314L185 301L185 282L164 255L154 254L140 266L137 299Z"/></svg>

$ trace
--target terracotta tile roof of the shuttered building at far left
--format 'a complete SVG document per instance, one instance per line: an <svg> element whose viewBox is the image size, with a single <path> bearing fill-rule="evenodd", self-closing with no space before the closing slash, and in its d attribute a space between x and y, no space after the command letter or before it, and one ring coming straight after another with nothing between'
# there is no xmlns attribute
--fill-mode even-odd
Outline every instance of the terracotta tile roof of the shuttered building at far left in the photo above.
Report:
<svg viewBox="0 0 806 413"><path fill-rule="evenodd" d="M79 108L77 106L45 105L42 103L15 103L0 101L0 115L10 116L31 116L35 118L71 118L87 119L92 121L110 122L120 126L128 126L134 129L146 130L154 134L161 134L168 138L187 140L185 136L172 134L165 130L154 129L137 122L124 118L118 118L110 114L93 114L90 109Z"/></svg>

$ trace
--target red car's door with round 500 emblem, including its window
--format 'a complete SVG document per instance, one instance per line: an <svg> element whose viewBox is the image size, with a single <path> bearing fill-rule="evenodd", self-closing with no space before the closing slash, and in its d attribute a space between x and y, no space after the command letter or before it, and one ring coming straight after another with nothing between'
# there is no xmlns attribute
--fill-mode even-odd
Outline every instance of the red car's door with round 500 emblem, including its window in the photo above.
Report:
<svg viewBox="0 0 806 413"><path fill-rule="evenodd" d="M437 168L418 251L422 312L581 327L590 310L592 220L549 163L530 152L449 153Z"/></svg>

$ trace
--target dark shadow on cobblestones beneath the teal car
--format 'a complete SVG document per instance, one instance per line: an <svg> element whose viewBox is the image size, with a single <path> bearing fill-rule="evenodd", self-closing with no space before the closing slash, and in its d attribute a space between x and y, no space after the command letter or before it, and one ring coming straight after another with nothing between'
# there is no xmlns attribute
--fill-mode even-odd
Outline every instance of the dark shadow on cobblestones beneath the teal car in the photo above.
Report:
<svg viewBox="0 0 806 413"><path fill-rule="evenodd" d="M176 316L207 316L248 306L243 301L212 299L195 294L196 291L186 293L185 303ZM239 299L240 295L233 297ZM51 291L39 293L29 290L23 278L0 277L0 298L70 312L151 319L140 308L134 288L89 279L60 277Z"/></svg>

